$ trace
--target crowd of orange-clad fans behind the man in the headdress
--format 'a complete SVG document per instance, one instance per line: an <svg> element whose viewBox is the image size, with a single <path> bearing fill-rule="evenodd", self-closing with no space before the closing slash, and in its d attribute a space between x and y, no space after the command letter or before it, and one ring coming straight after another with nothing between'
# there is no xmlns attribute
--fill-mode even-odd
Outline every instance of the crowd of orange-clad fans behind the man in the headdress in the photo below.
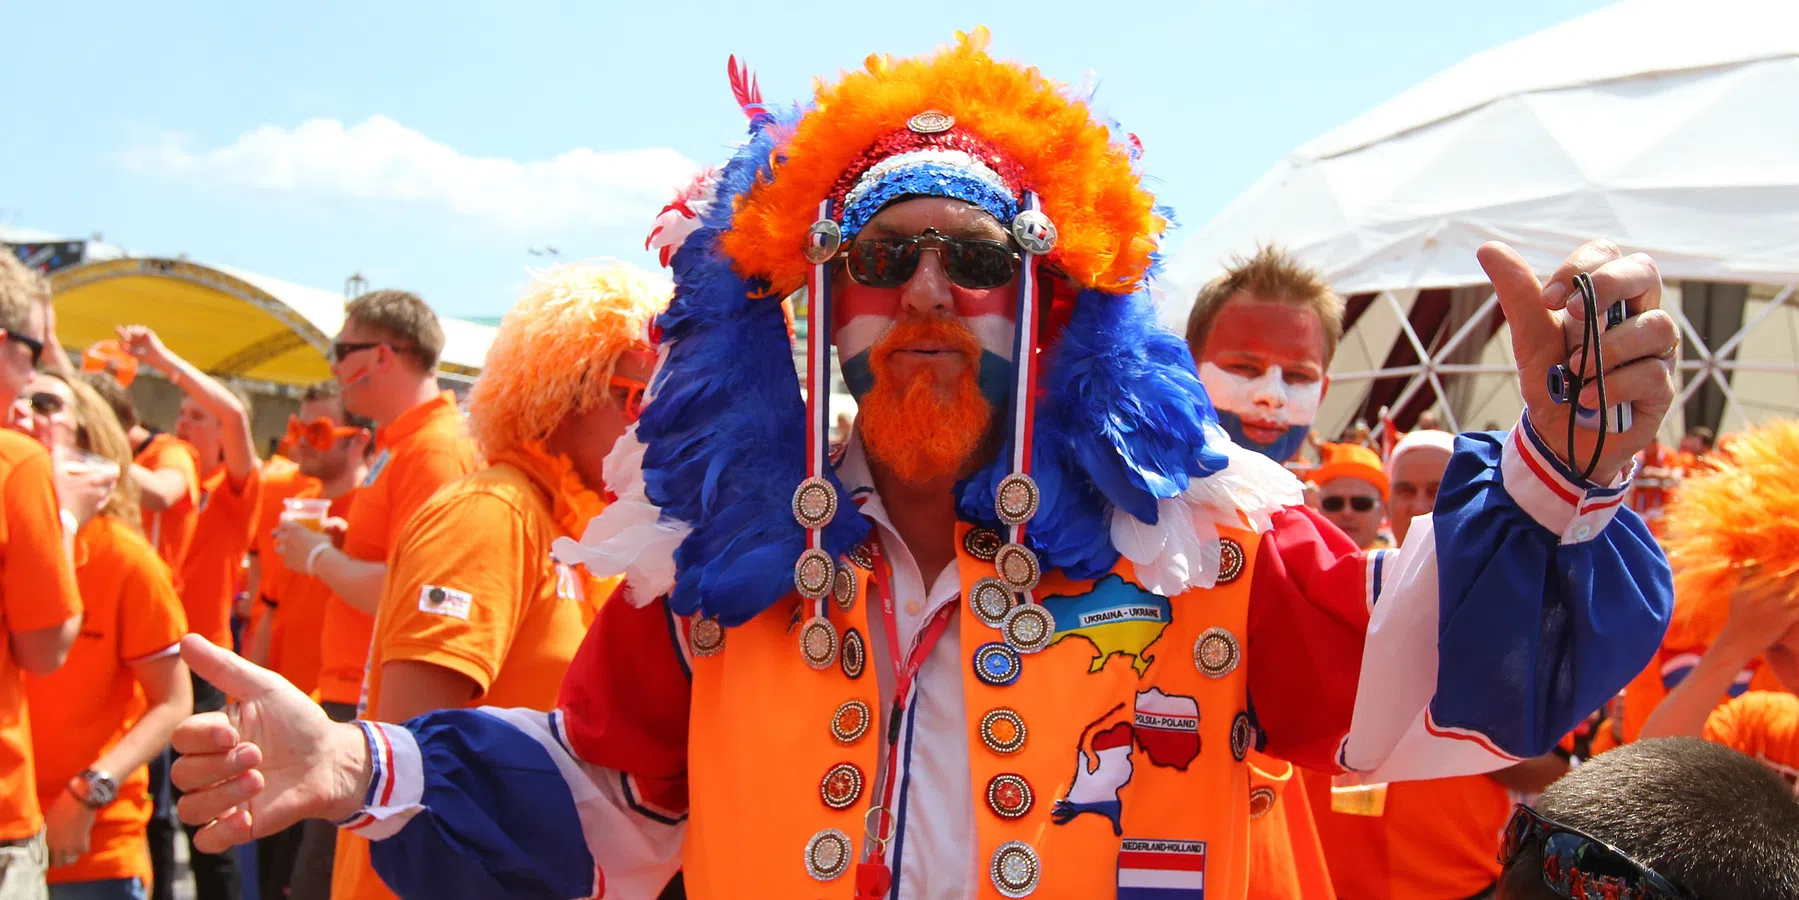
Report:
<svg viewBox="0 0 1799 900"><path fill-rule="evenodd" d="M122 324L119 346L183 392L176 421L140 421L113 371L76 373L45 283L0 256L0 401L14 410L0 430L0 898L34 896L16 887L32 859L58 900L173 896L169 770L183 763L169 736L227 702L183 666L183 634L273 670L338 722L552 707L615 587L556 562L550 544L579 536L603 504L604 459L648 387L655 356L640 335L666 297L635 277L568 266L540 281L502 326L468 416L435 382L432 310L405 292L356 297L335 380L304 392L264 459L250 400L146 328ZM1277 396L1214 396L1220 412L1268 445L1310 432L1342 304L1272 248L1207 290L1187 331L1202 374L1250 383L1284 371ZM1231 317L1249 308L1295 315L1301 338L1234 337L1249 331ZM1362 549L1403 545L1455 452L1432 425L1382 441L1356 423L1340 443L1313 441L1293 457L1308 504ZM847 436L851 423L837 427ZM1653 445L1626 502L1655 526L1714 452L1704 428L1678 448ZM1612 853L1619 871L1653 871L1682 896L1799 896L1794 585L1745 580L1727 598L1682 601L1725 605L1722 628L1671 634L1558 752L1394 785L1301 770L1284 821L1310 826L1256 841L1320 857L1328 880L1270 875L1250 896L1319 896L1306 893L1317 884L1346 900L1626 896L1598 880L1574 893L1589 887L1558 880L1571 853ZM1664 736L1713 743L1641 740ZM367 844L338 835L308 821L261 839L261 895L390 896ZM241 893L232 855L189 859L201 900Z"/></svg>

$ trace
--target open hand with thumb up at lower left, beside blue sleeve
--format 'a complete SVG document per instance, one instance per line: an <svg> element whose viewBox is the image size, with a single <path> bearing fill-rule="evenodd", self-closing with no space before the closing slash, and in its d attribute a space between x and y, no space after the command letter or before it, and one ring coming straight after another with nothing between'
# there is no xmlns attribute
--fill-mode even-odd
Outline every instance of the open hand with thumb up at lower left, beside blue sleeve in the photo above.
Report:
<svg viewBox="0 0 1799 900"><path fill-rule="evenodd" d="M183 637L182 659L230 695L227 711L236 713L201 713L175 729L182 758L169 779L187 792L176 814L203 826L196 848L218 853L300 819L344 819L362 806L369 788L362 729L331 722L286 679L205 637Z"/></svg>

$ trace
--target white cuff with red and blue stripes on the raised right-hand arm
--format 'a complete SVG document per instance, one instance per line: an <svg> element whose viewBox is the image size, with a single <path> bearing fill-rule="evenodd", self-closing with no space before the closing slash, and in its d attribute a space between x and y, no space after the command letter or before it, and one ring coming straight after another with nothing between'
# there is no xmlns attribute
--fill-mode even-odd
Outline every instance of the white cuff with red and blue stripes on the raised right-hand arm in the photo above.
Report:
<svg viewBox="0 0 1799 900"><path fill-rule="evenodd" d="M1524 416L1506 436L1506 448L1499 463L1506 493L1536 524L1562 535L1562 544L1580 544L1599 536L1599 531L1612 522L1630 491L1630 479L1637 472L1632 463L1617 481L1607 486L1581 481L1556 459L1531 427L1531 418Z"/></svg>

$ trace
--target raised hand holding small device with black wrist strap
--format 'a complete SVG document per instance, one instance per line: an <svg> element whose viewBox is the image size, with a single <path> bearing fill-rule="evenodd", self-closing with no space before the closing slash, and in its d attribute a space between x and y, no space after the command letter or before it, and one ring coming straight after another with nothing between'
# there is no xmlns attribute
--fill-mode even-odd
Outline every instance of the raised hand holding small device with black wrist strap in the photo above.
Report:
<svg viewBox="0 0 1799 900"><path fill-rule="evenodd" d="M1592 472L1596 482L1610 484L1650 445L1675 400L1673 360L1680 333L1673 317L1660 308L1662 277L1655 261L1644 254L1623 256L1610 241L1592 241L1569 254L1547 283L1538 283L1524 257L1504 243L1481 245L1475 256L1493 283L1506 324L1511 326L1511 351L1531 425L1558 457L1567 454L1569 416L1574 407L1549 398L1549 367L1567 364L1578 367L1583 378L1594 374L1589 360L1574 358L1585 328L1581 304L1569 302L1578 297L1574 275L1587 272L1592 277L1601 315L1614 302L1624 301L1624 322L1605 331L1599 340L1607 405L1632 405L1630 430L1605 436L1605 452ZM1599 405L1590 389L1592 385L1580 398L1580 405L1587 409ZM1562 461L1574 472L1585 470L1598 437L1598 430L1576 427L1576 459Z"/></svg>

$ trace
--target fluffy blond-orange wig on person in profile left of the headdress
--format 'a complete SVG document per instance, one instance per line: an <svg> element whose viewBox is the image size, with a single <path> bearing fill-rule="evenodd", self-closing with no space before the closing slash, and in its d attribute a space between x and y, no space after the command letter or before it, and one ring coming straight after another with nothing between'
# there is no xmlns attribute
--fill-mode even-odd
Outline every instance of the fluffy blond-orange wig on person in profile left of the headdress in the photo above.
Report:
<svg viewBox="0 0 1799 900"><path fill-rule="evenodd" d="M619 355L648 347L673 286L624 263L572 263L538 274L488 347L468 396L486 457L543 441L604 396Z"/></svg>

